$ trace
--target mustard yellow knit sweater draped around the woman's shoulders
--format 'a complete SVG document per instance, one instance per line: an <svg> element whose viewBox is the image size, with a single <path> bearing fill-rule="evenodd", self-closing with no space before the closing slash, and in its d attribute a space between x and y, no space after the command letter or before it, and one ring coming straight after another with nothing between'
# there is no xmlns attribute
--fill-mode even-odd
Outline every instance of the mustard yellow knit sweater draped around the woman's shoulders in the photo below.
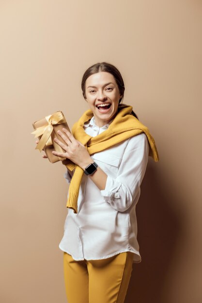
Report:
<svg viewBox="0 0 202 303"><path fill-rule="evenodd" d="M119 105L117 115L109 124L109 128L95 137L87 135L83 128L84 123L93 117L93 112L89 109L85 111L78 122L73 125L72 134L78 141L85 145L89 154L92 155L95 152L101 152L132 136L136 136L144 132L150 144L149 155L153 157L155 162L157 162L159 158L155 146L155 140L150 134L148 128L144 126L137 118L131 115L132 109L132 106L123 104ZM83 176L83 169L69 159L62 161L62 164L64 164L70 171L75 169L69 186L66 207L72 208L74 212L77 213L78 192Z"/></svg>

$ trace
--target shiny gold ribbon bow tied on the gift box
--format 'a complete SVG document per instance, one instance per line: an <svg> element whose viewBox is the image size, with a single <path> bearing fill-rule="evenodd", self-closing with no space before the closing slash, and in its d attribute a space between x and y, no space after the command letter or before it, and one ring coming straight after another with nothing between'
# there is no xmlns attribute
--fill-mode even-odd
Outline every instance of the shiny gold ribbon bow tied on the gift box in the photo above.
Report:
<svg viewBox="0 0 202 303"><path fill-rule="evenodd" d="M53 115L49 115L45 117L47 120L47 125L43 125L37 127L35 131L31 134L35 135L35 138L41 136L39 143L37 144L35 150L39 150L40 152L43 150L45 145L53 145L56 152L63 152L62 147L58 145L54 140L52 140L52 132L53 132L53 125L55 124L62 124L65 123L66 120L61 111L57 111ZM61 157L59 157L61 158ZM63 159L63 158L61 158Z"/></svg>

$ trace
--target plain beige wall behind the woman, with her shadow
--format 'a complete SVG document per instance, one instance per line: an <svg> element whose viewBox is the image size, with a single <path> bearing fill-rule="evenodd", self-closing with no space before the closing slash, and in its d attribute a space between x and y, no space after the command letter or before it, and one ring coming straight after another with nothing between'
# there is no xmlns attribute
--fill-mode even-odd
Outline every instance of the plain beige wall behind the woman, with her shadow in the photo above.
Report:
<svg viewBox="0 0 202 303"><path fill-rule="evenodd" d="M155 137L137 207L142 262L126 303L202 302L202 2L0 1L0 302L65 303L65 167L35 151L33 121L84 110L81 77L108 61Z"/></svg>

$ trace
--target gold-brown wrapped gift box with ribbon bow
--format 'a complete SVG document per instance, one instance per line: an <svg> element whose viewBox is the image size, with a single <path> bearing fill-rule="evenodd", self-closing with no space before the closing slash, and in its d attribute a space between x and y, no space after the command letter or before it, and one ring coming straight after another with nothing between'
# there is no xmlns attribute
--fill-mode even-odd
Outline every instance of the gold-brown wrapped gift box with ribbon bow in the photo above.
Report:
<svg viewBox="0 0 202 303"><path fill-rule="evenodd" d="M66 145L62 137L57 133L58 130L62 132L62 128L66 128L70 132L62 111L57 111L52 115L46 116L44 119L32 123L32 126L35 131L31 134L34 134L35 138L38 137L39 139L39 143L35 149L40 152L43 150L51 163L64 160L65 158L58 157L52 153L52 151L65 152L62 147L54 141L54 137L57 137Z"/></svg>

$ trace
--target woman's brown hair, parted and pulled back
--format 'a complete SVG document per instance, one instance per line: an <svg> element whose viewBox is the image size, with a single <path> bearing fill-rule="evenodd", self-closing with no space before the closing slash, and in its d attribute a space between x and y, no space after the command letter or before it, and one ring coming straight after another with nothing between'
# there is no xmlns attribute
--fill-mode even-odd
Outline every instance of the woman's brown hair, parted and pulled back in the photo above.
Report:
<svg viewBox="0 0 202 303"><path fill-rule="evenodd" d="M82 80L81 80L81 89L82 89L83 97L86 99L86 80L87 80L87 78L89 76L91 76L93 74L97 74L99 72L107 72L114 77L114 79L118 85L120 94L122 95L122 97L119 99L119 104L120 104L120 102L124 98L124 91L125 91L124 80L123 80L123 77L122 77L120 71L118 70L118 68L116 68L114 65L112 65L108 62L101 62L101 63L93 64L85 71L85 73L83 74ZM132 111L131 114L138 119L138 117L134 113L134 111Z"/></svg>

